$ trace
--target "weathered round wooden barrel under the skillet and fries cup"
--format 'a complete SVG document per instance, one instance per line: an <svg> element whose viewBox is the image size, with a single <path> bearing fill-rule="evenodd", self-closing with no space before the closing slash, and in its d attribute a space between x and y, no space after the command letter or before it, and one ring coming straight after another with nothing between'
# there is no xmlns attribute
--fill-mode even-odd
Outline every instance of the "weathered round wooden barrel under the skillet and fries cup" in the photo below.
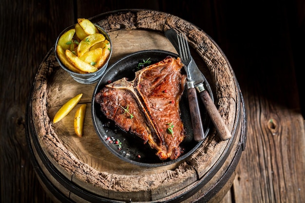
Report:
<svg viewBox="0 0 305 203"><path fill-rule="evenodd" d="M178 163L144 167L124 162L103 146L95 133L90 107L96 83L84 85L74 81L59 67L52 48L38 68L26 112L28 145L41 185L58 202L221 200L232 185L247 131L243 97L224 53L200 28L168 13L119 10L91 21L111 37L110 65L140 50L176 53L164 31L172 28L185 33L232 138L221 141L212 128L201 146ZM83 93L78 105L87 104L83 137L76 136L73 129L76 108L60 122L52 122L58 109L78 93Z"/></svg>

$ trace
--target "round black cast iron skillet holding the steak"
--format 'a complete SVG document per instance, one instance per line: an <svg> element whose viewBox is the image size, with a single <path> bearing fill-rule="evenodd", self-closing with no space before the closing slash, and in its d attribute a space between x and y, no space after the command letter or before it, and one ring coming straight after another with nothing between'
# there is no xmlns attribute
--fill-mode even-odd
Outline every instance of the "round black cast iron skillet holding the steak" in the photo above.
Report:
<svg viewBox="0 0 305 203"><path fill-rule="evenodd" d="M183 153L179 158L175 160L165 160L162 161L157 155L155 155L156 150L150 148L149 144L143 144L143 141L130 132L126 132L119 129L115 123L104 116L100 111L100 105L95 103L94 97L97 92L99 92L109 81L114 82L123 77L130 78L133 80L135 77L134 72L137 71L138 64L150 58L150 65L163 60L166 56L178 57L178 55L163 51L163 50L144 50L135 52L130 55L126 55L123 58L117 60L112 64L98 81L95 86L92 97L92 119L95 127L95 131L102 143L117 157L120 159L138 165L138 166L164 166L179 162L187 158L191 153L193 153L203 142L196 142L193 139L191 116L189 110L189 101L187 98L187 92L184 94L180 101L180 111L181 118L186 129L186 137L184 141L180 144L183 149ZM182 72L184 73L184 70ZM207 80L205 80L207 81ZM209 91L211 98L213 99L210 85L206 82L206 89ZM209 133L210 117L200 103L201 106L201 116L204 125L205 134ZM119 144L115 144L115 141L119 141ZM120 144L121 143L121 144Z"/></svg>

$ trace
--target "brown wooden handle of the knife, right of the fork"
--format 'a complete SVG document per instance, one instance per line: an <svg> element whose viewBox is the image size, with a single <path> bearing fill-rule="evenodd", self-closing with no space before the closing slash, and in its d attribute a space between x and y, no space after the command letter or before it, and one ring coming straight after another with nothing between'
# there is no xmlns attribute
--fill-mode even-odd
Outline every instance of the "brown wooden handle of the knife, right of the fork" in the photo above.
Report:
<svg viewBox="0 0 305 203"><path fill-rule="evenodd" d="M210 119L213 122L221 140L228 140L232 136L227 125L222 119L219 111L217 110L214 102L212 101L208 91L203 90L199 92L201 100L203 101L206 110L210 115Z"/></svg>

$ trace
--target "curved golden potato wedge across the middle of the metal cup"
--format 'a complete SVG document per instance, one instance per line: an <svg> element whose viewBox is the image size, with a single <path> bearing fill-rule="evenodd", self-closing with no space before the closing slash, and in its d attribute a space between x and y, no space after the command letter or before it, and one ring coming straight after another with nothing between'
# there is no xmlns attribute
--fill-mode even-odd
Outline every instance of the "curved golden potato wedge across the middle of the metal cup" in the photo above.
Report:
<svg viewBox="0 0 305 203"><path fill-rule="evenodd" d="M105 36L100 33L87 36L79 42L77 46L77 56L81 57L82 55L87 53L93 45L104 40Z"/></svg>

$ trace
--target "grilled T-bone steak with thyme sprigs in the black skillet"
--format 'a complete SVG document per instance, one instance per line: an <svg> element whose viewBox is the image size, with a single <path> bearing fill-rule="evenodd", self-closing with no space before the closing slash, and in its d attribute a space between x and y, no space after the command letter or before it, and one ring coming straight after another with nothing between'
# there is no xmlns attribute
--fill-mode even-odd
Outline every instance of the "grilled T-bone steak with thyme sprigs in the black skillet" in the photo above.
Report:
<svg viewBox="0 0 305 203"><path fill-rule="evenodd" d="M156 149L161 160L178 158L185 137L179 108L186 82L182 67L179 57L168 56L137 71L133 81L122 78L95 95L107 118Z"/></svg>

